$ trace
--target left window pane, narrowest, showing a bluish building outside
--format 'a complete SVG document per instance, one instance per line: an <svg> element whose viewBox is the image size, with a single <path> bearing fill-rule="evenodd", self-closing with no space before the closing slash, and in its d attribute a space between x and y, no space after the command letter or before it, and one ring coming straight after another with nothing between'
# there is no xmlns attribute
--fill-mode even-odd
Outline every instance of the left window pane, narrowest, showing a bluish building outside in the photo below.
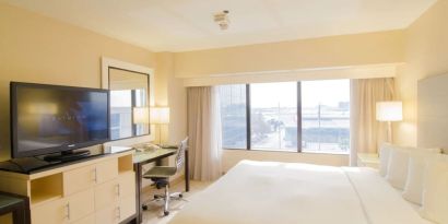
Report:
<svg viewBox="0 0 448 224"><path fill-rule="evenodd" d="M246 149L246 85L221 85L219 90L223 148Z"/></svg>

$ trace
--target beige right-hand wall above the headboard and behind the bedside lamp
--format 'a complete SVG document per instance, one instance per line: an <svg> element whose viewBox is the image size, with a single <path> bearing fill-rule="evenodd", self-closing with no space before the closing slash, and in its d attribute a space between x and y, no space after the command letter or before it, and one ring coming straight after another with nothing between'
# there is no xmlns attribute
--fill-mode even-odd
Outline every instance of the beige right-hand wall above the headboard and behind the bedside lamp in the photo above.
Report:
<svg viewBox="0 0 448 224"><path fill-rule="evenodd" d="M403 122L396 125L394 141L416 145L417 81L448 73L448 1L439 0L405 31L405 66L397 76L403 101Z"/></svg>

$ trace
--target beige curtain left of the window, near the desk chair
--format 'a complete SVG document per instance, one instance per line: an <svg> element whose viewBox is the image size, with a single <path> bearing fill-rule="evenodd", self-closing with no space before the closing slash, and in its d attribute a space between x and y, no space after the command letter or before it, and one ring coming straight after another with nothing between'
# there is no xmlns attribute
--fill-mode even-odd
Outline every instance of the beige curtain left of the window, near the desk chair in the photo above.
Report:
<svg viewBox="0 0 448 224"><path fill-rule="evenodd" d="M222 174L222 134L217 87L189 87L187 104L191 178L214 180Z"/></svg>

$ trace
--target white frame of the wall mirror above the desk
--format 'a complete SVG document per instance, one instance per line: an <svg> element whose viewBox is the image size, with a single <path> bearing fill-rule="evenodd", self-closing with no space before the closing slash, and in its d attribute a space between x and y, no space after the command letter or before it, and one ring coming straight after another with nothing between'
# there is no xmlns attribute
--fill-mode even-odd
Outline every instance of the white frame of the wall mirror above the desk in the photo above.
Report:
<svg viewBox="0 0 448 224"><path fill-rule="evenodd" d="M154 106L154 70L151 68L146 68L143 66L139 64L133 64L120 60L116 60L113 58L106 58L102 57L102 89L104 90L109 90L109 70L110 69L118 69L118 70L125 70L129 72L135 72L135 73L141 73L141 74L148 74L149 78L149 107ZM120 141L123 142L123 144L129 144L126 142L131 142L130 144L134 144L137 142L149 142L154 140L154 131L152 130L152 125L150 123L150 133L148 134L142 134L142 135L132 135L132 137L127 137L122 139L116 139L116 140L110 140L110 141ZM110 131L110 130L109 130Z"/></svg>

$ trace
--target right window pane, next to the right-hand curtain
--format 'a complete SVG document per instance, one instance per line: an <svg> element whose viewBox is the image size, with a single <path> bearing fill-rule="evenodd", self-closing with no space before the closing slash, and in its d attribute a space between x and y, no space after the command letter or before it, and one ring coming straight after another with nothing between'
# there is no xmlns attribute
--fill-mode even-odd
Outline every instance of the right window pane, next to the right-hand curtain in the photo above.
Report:
<svg viewBox="0 0 448 224"><path fill-rule="evenodd" d="M302 82L302 151L350 148L350 80Z"/></svg>

